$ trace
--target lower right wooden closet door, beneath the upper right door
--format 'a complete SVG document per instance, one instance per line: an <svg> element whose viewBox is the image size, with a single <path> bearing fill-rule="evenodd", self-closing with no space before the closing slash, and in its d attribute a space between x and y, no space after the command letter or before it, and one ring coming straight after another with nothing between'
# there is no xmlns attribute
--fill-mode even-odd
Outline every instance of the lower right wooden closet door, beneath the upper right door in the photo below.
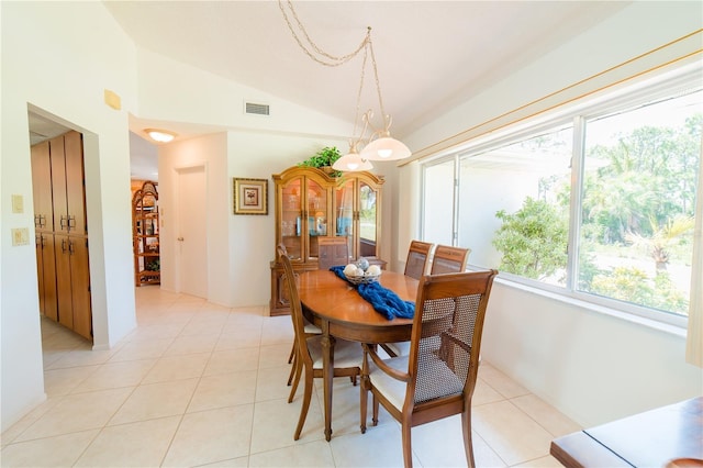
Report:
<svg viewBox="0 0 703 468"><path fill-rule="evenodd" d="M71 298L74 305L74 332L92 338L92 313L90 308L90 271L88 239L69 237Z"/></svg>

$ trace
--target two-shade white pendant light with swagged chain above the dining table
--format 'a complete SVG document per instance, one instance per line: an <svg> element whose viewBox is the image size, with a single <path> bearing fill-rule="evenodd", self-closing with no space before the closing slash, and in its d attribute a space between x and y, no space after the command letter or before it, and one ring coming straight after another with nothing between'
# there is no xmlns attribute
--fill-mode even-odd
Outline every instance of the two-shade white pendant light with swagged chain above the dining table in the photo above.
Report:
<svg viewBox="0 0 703 468"><path fill-rule="evenodd" d="M327 66L327 67L337 67L339 65L346 64L352 58L356 57L361 51L364 51L364 59L361 62L361 79L359 81L359 91L356 98L356 114L354 118L354 132L352 134L352 138L349 138L349 153L342 156L332 166L336 170L342 171L357 171L357 170L368 170L373 166L369 160L398 160L404 159L409 157L412 153L408 146L405 146L402 142L393 138L391 136L390 126L392 123L392 119L389 114L386 113L386 109L383 108L383 98L381 96L381 85L378 79L378 67L376 65L376 55L373 54L373 43L371 42L371 27L367 29L366 36L364 41L359 44L359 46L352 53L343 56L334 56L327 54L323 49L321 49L308 35L305 27L298 19L295 11L293 10L293 4L290 0L287 1L288 8L290 9L292 18L295 20L295 24L302 32L302 37L306 41L308 44L303 44L301 37L295 33L291 22L288 18L288 13L286 12L286 8L283 7L282 0L278 0L278 5L283 13L283 19L286 20L286 24L288 24L288 29L290 30L293 38L298 43L298 45L303 49L303 52L316 63ZM317 54L317 55L315 55ZM366 65L368 56L371 56L371 65L373 67L373 78L376 79L376 92L378 94L378 105L381 112L382 119L382 127L380 130L376 130L371 124L371 118L373 116L373 112L369 109L362 115L364 126L358 136L356 136L356 132L359 123L359 105L361 101L361 90L364 89L364 77L366 71ZM322 57L322 58L321 58ZM370 129L370 136L365 138L367 130ZM359 153L358 148L361 148Z"/></svg>

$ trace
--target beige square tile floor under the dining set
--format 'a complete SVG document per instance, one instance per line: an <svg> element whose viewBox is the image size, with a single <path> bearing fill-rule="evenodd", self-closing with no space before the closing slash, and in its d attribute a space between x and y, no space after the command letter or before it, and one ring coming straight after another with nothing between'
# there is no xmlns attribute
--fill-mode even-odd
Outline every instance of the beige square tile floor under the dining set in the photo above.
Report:
<svg viewBox="0 0 703 468"><path fill-rule="evenodd" d="M110 350L43 320L47 401L2 434L3 467L395 467L398 424L359 432L358 387L336 379L324 441L322 390L293 441L288 316L136 289L138 327ZM319 386L319 382L316 382ZM558 467L550 441L579 427L486 360L473 397L480 467ZM465 466L459 416L413 428L416 467Z"/></svg>

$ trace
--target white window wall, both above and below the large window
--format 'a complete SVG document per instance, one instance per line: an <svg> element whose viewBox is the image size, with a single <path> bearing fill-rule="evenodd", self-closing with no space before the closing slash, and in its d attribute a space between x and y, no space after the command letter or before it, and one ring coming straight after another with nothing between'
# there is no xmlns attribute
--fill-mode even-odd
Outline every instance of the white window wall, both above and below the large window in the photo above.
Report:
<svg viewBox="0 0 703 468"><path fill-rule="evenodd" d="M475 100L448 110L408 142L425 147L448 138L692 33L701 27L702 8L700 2L634 2ZM692 47L700 49L700 36ZM672 59L682 53L682 47L672 47L656 60L665 63L667 54ZM637 66L651 67L650 58ZM414 166L401 168L400 188L417 183ZM399 213L417 210L412 199L404 199ZM405 214L398 218L414 227ZM410 237L416 233L411 231ZM399 250L403 242L401 234ZM703 370L685 364L684 343L681 334L496 281L482 356L576 422L591 426L703 394Z"/></svg>

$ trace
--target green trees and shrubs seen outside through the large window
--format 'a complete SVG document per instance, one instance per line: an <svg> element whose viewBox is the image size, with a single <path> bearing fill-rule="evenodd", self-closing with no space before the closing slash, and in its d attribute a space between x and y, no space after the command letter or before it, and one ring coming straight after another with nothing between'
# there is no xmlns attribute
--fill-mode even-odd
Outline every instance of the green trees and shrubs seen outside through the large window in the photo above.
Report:
<svg viewBox="0 0 703 468"><path fill-rule="evenodd" d="M590 148L587 158L604 164L584 175L580 290L688 313L688 298L667 266L690 261L702 126L703 114L696 114L682 127L643 126L611 146ZM545 178L540 197L550 191L556 203L526 198L517 212L495 213L502 221L493 239L503 254L500 269L534 279L566 274L569 183ZM649 259L656 276L599 267L599 255Z"/></svg>

